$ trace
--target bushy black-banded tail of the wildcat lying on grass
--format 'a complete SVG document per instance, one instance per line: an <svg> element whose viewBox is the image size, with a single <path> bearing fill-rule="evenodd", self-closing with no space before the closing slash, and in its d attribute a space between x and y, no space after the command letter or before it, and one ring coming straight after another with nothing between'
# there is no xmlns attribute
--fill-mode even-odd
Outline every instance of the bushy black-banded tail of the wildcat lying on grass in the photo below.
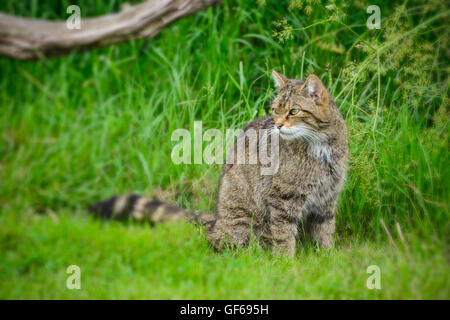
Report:
<svg viewBox="0 0 450 320"><path fill-rule="evenodd" d="M201 222L207 230L212 229L216 222L212 214L187 211L136 194L111 197L91 205L89 211L104 219L133 219L148 221L151 224L178 220L194 222L195 224Z"/></svg>

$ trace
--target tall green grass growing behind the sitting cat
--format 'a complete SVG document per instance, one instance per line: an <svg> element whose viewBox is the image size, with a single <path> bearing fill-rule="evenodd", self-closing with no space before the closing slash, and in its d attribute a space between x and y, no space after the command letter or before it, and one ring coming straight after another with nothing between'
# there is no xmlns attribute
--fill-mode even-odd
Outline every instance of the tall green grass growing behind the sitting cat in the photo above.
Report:
<svg viewBox="0 0 450 320"><path fill-rule="evenodd" d="M83 14L95 15L118 5L108 3L80 6ZM15 14L65 16L46 2L31 12L20 2L2 7ZM324 20L327 9L314 5L308 16L287 3L230 1L149 41L41 62L3 59L3 207L77 208L112 193L170 187L181 204L211 210L218 168L174 165L170 133L191 128L194 120L223 130L266 115L273 95L268 74L276 68L292 77L318 74L347 119L351 165L339 210L342 231L380 234L383 217L444 235L448 33L439 22L448 10L439 11L438 3L429 7L426 12L418 11L420 5L400 10L386 4L383 14L392 16L382 16L381 31L369 31L361 4L344 8L345 22L339 13L305 28ZM285 43L272 37L273 22L281 18L294 27L293 40ZM412 22L390 26L404 19ZM417 26L423 28L412 32ZM414 54L429 56L430 65L403 57L398 47L410 34ZM433 47L424 49L424 41ZM344 49L333 52L334 47ZM391 60L398 60L395 69ZM408 68L420 78L411 78Z"/></svg>

